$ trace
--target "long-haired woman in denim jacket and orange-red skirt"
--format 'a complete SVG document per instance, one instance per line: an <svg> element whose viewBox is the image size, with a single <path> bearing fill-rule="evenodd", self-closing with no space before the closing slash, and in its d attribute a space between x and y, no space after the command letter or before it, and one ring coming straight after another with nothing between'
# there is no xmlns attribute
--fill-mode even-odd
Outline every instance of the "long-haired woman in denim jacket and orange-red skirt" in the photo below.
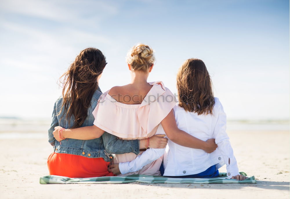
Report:
<svg viewBox="0 0 290 199"><path fill-rule="evenodd" d="M52 123L48 130L48 141L53 153L47 160L50 175L71 178L113 176L108 165L113 159L111 154L139 154L144 148L144 140L120 140L116 136L104 133L95 139L57 141L52 132L56 126L79 128L91 126L95 120L92 112L102 95L99 79L106 66L106 58L96 48L82 50L62 76L62 96L57 99L52 113ZM150 138L152 148L165 148L167 139L162 135Z"/></svg>

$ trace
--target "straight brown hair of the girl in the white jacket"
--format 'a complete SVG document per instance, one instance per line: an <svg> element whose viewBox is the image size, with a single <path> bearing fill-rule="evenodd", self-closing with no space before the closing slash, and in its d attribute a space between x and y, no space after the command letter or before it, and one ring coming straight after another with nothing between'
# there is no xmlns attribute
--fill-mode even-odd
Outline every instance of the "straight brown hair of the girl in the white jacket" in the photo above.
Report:
<svg viewBox="0 0 290 199"><path fill-rule="evenodd" d="M200 59L188 59L177 73L179 106L185 111L212 114L215 100L211 76Z"/></svg>

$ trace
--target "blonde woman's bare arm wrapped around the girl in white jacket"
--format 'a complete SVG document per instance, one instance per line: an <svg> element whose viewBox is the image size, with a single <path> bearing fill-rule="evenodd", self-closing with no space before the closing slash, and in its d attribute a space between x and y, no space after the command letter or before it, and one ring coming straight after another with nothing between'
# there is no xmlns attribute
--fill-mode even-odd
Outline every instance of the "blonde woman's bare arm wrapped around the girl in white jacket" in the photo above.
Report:
<svg viewBox="0 0 290 199"><path fill-rule="evenodd" d="M217 148L214 139L202 141L177 128L173 110L162 120L161 125L167 137L176 144L189 148L202 149L206 153L212 153Z"/></svg>

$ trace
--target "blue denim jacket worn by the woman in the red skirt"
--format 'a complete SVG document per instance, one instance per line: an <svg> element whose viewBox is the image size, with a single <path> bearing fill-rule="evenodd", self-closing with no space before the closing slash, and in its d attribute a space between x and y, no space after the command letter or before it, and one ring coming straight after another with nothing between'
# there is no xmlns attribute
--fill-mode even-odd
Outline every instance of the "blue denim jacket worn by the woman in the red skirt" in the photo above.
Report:
<svg viewBox="0 0 290 199"><path fill-rule="evenodd" d="M91 106L88 108L88 116L86 121L81 125L92 126L95 120L92 112L97 106L98 99L102 94L101 89L98 89L93 94L91 99ZM52 132L56 126L63 128L71 128L74 122L74 116L68 119L66 118L67 112L64 112L64 108L61 114L58 115L63 98L57 99L54 105L52 113L52 123L48 130L48 142L53 146L55 153L66 153L73 155L81 155L88 158L102 157L106 162L110 162L113 159L111 154L123 154L123 153L135 153L139 154L139 140L120 140L115 135L111 135L105 132L102 137L91 140L79 140L79 139L65 139L61 141L61 144L53 137ZM63 116L63 117L62 117ZM109 119L109 118L108 118Z"/></svg>

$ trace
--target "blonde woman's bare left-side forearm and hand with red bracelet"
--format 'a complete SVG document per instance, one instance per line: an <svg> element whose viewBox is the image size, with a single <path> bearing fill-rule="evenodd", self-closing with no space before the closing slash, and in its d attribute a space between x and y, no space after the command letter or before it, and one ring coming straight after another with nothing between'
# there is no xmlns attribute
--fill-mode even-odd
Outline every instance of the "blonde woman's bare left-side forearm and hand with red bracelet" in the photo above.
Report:
<svg viewBox="0 0 290 199"><path fill-rule="evenodd" d="M59 141L58 132L61 129L60 126L55 127L53 131L53 135L57 141ZM88 139L96 139L103 135L105 131L100 129L99 127L93 126L85 126L80 128L73 128L73 129L65 129L62 131L62 135L64 138L70 139L81 139L81 140L88 140Z"/></svg>

